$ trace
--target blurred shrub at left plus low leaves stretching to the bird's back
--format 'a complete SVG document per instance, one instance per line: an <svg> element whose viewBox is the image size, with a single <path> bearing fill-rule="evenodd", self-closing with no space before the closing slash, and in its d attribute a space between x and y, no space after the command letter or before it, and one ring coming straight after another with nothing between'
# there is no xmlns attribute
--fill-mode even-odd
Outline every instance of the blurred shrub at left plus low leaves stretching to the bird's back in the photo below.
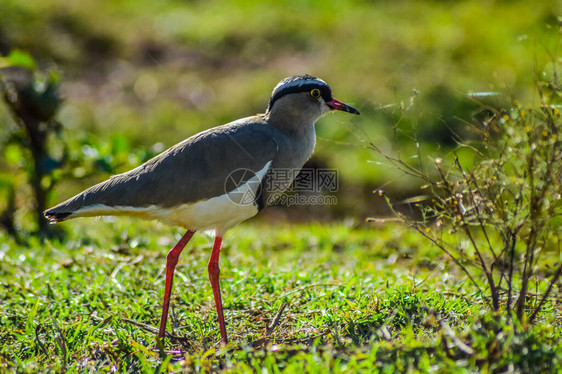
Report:
<svg viewBox="0 0 562 374"><path fill-rule="evenodd" d="M118 133L101 139L65 132L56 118L62 107L59 84L55 72L40 72L23 51L0 58L0 94L13 119L6 120L0 137L0 229L20 240L26 231L60 234L43 216L59 182L131 169L163 147L131 149Z"/></svg>

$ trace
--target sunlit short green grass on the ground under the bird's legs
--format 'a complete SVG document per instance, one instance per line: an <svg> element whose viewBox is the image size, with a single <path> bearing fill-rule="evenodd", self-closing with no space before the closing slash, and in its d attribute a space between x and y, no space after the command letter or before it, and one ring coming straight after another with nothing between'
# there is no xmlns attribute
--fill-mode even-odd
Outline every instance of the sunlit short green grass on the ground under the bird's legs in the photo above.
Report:
<svg viewBox="0 0 562 374"><path fill-rule="evenodd" d="M166 340L162 358L154 334L128 321L158 326L165 256L181 232L127 219L64 225L62 243L0 239L8 371L496 372L562 359L554 312L543 327L482 315L481 295L455 267L399 227L259 221L225 237L232 342L218 344L212 237L199 233L176 271L168 331L181 339Z"/></svg>

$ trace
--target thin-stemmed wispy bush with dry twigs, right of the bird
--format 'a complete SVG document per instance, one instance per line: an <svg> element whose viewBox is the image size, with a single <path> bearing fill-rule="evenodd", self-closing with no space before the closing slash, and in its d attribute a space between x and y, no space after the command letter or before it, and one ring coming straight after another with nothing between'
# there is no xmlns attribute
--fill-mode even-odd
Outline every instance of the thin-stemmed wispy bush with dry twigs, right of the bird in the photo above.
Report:
<svg viewBox="0 0 562 374"><path fill-rule="evenodd" d="M505 109L486 107L473 125L476 140L433 159L431 171L371 144L428 191L415 204L420 218L387 198L394 215L446 253L492 310L529 322L562 273L562 87L554 74L537 89L537 107L517 100Z"/></svg>

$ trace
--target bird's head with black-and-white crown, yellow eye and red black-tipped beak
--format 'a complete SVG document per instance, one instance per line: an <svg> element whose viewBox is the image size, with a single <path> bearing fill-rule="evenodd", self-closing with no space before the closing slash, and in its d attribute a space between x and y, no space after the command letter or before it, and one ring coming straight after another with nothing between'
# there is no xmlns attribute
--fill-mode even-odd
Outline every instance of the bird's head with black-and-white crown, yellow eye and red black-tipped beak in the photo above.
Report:
<svg viewBox="0 0 562 374"><path fill-rule="evenodd" d="M271 93L267 114L271 117L290 117L298 123L314 123L324 114L341 110L359 111L333 98L330 86L311 75L295 75L283 79Z"/></svg>

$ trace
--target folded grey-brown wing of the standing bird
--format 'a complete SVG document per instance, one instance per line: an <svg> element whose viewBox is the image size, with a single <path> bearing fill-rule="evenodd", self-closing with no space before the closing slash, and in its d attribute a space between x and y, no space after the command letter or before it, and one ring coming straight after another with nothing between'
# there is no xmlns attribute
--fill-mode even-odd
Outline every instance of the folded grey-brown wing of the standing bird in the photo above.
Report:
<svg viewBox="0 0 562 374"><path fill-rule="evenodd" d="M272 130L252 117L199 133L129 172L111 177L49 209L53 221L81 208L107 206L171 207L223 195L227 178L238 169L253 173L278 151ZM237 174L238 182L252 173Z"/></svg>

